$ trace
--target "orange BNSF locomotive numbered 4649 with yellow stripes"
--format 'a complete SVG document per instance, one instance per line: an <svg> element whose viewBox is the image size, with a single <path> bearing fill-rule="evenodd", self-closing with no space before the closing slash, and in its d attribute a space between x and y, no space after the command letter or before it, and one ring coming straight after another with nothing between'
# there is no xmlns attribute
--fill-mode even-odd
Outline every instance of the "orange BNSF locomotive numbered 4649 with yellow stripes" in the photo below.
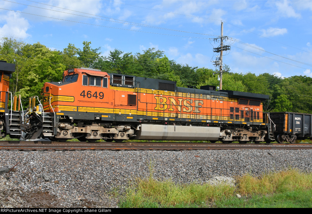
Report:
<svg viewBox="0 0 312 214"><path fill-rule="evenodd" d="M62 82L43 87L43 109L30 99L26 139L64 141L274 141L263 112L268 95L181 88L176 82L69 69Z"/></svg>

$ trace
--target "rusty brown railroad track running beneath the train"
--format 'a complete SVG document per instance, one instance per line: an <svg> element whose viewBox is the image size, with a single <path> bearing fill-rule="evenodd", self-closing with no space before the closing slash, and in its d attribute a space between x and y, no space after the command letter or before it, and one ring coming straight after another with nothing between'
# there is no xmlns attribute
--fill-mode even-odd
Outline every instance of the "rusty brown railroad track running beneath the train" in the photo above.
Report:
<svg viewBox="0 0 312 214"><path fill-rule="evenodd" d="M59 142L0 141L0 150L235 150L235 149L312 149L312 144L222 144L180 142Z"/></svg>

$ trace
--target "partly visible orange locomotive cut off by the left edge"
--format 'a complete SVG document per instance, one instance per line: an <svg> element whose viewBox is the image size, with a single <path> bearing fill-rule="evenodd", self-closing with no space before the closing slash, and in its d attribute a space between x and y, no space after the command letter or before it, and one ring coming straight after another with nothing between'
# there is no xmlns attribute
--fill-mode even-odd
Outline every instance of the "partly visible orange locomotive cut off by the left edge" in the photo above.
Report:
<svg viewBox="0 0 312 214"><path fill-rule="evenodd" d="M19 109L16 111L17 97L12 99L12 93L9 92L10 78L14 71L15 64L0 60L0 138L10 135L11 138L19 139L22 135L20 112ZM18 106L20 107L20 102Z"/></svg>

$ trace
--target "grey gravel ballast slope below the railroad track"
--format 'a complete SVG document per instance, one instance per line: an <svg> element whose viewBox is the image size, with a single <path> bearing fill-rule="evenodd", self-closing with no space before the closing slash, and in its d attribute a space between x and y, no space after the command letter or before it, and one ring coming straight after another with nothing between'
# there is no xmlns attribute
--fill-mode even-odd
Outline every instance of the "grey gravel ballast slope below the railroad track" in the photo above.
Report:
<svg viewBox="0 0 312 214"><path fill-rule="evenodd" d="M0 173L0 207L117 207L114 193L151 170L157 180L233 185L247 173L312 172L311 163L312 150L0 151L0 170L17 164Z"/></svg>

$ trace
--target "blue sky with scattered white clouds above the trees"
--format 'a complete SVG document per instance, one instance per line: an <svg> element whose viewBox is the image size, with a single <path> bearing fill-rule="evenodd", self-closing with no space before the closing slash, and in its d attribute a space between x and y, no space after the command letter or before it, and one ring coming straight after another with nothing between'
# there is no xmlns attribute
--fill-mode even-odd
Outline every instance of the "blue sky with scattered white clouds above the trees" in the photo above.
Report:
<svg viewBox="0 0 312 214"><path fill-rule="evenodd" d="M233 72L312 77L312 1L0 0L0 8L1 37L52 50L91 41L104 56L154 47L177 63L211 69L222 20L231 45L223 64Z"/></svg>

